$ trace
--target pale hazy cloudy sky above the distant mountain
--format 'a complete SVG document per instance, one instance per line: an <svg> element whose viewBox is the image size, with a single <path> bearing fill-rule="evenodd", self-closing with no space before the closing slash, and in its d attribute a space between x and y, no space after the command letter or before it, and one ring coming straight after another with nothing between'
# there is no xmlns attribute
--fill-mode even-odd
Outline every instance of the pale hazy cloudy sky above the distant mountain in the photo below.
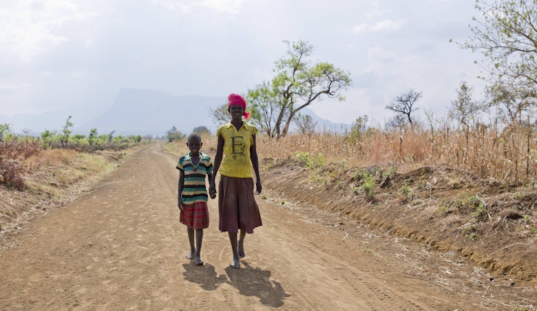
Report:
<svg viewBox="0 0 537 311"><path fill-rule="evenodd" d="M443 114L461 81L481 90L480 55L449 42L470 38L472 16L470 0L0 0L0 115L104 111L122 88L245 93L284 40L351 73L346 102L310 106L319 117L383 123L408 89Z"/></svg>

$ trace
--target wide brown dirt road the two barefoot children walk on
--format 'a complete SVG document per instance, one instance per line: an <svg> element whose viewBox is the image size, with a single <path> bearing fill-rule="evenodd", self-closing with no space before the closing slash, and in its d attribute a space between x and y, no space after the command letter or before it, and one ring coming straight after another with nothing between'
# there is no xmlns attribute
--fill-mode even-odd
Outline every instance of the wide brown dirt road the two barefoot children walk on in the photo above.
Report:
<svg viewBox="0 0 537 311"><path fill-rule="evenodd" d="M439 281L431 275L472 267L385 233L341 231L337 222L346 220L326 222L268 190L257 197L264 225L246 237L242 268L229 268L217 200L209 202L205 264L195 266L185 259L187 233L178 221L177 159L153 144L76 202L8 237L0 309L512 310L510 297L523 295L501 288L511 296L490 299L498 288Z"/></svg>

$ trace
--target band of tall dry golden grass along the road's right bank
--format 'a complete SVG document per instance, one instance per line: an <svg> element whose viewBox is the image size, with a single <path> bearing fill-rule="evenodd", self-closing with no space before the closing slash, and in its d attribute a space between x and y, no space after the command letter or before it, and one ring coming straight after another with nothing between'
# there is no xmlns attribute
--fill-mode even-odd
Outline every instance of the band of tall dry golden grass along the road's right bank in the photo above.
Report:
<svg viewBox="0 0 537 311"><path fill-rule="evenodd" d="M415 126L403 130L368 128L359 135L330 131L270 139L258 135L262 158L295 159L297 152L324 156L325 163L364 168L377 165L399 171L447 165L479 178L503 183L531 183L537 172L537 139L528 126L487 126L467 130Z"/></svg>

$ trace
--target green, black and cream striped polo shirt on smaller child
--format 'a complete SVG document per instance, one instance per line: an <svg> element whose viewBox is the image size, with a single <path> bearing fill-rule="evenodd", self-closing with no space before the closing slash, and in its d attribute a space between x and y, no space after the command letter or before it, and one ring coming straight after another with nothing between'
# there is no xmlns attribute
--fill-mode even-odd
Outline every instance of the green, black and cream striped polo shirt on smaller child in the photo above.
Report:
<svg viewBox="0 0 537 311"><path fill-rule="evenodd" d="M213 172L213 163L211 158L200 152L200 163L198 167L192 164L189 154L182 156L176 166L176 169L185 173L185 183L182 187L182 202L191 205L193 203L208 201L207 186L205 185L205 176Z"/></svg>

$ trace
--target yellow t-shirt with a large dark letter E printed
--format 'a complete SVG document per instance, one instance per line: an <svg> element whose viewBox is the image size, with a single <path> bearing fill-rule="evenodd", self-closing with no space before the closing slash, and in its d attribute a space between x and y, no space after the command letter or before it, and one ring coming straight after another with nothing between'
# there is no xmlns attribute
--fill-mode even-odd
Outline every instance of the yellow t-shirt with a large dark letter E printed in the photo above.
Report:
<svg viewBox="0 0 537 311"><path fill-rule="evenodd" d="M231 124L224 124L216 131L216 137L224 139L224 158L220 164L220 174L237 178L252 178L252 161L250 147L257 128L242 122L239 130Z"/></svg>

